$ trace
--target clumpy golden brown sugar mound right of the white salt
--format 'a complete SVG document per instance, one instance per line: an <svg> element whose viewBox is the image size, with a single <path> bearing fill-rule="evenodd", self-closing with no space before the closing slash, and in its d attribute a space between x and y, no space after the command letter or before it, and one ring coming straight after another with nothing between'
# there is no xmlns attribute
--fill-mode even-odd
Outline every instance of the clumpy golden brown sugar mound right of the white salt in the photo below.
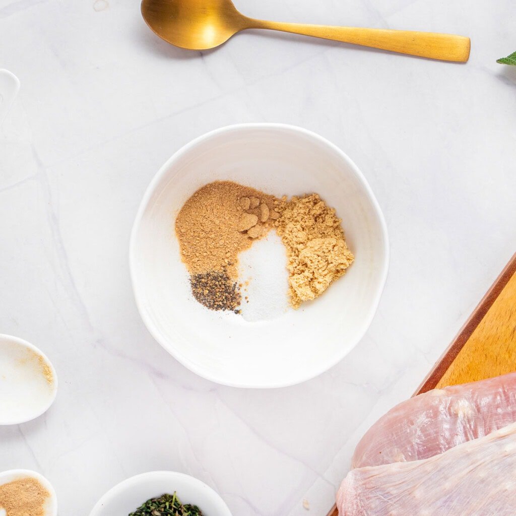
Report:
<svg viewBox="0 0 516 516"><path fill-rule="evenodd" d="M287 251L288 294L293 308L319 297L351 265L341 219L314 193L277 201L276 231Z"/></svg>

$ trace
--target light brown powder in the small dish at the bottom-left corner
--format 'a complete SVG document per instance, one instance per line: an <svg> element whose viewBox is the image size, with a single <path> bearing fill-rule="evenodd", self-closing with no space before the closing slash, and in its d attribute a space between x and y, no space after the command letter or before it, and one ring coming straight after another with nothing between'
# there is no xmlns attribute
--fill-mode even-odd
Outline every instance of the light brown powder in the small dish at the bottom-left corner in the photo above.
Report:
<svg viewBox="0 0 516 516"><path fill-rule="evenodd" d="M7 516L45 516L49 496L36 478L19 478L0 486L0 507Z"/></svg>

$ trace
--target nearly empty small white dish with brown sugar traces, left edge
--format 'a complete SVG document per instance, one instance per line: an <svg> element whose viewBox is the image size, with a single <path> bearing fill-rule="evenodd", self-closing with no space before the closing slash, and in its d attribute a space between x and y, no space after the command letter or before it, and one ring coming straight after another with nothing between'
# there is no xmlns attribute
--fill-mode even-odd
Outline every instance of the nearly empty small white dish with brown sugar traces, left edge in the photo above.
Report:
<svg viewBox="0 0 516 516"><path fill-rule="evenodd" d="M0 334L0 425L35 419L50 408L56 394L57 374L46 355L21 338Z"/></svg>

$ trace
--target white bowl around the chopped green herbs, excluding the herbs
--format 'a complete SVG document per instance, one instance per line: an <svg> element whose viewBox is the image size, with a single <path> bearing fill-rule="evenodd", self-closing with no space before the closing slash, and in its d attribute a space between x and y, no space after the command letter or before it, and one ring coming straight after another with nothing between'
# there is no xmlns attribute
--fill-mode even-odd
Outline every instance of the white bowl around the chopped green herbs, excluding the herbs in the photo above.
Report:
<svg viewBox="0 0 516 516"><path fill-rule="evenodd" d="M183 504L197 505L205 516L231 516L228 506L211 487L172 471L152 471L120 482L99 500L90 516L127 516L148 499L174 491Z"/></svg>

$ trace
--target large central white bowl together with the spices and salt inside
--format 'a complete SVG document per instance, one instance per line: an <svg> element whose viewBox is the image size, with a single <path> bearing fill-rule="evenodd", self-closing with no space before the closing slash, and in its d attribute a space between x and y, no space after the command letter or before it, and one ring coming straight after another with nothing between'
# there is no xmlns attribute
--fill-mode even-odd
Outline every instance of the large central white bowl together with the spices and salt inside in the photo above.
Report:
<svg viewBox="0 0 516 516"><path fill-rule="evenodd" d="M246 124L176 153L141 203L130 264L156 340L223 384L290 385L367 329L388 268L365 179L325 139Z"/></svg>

